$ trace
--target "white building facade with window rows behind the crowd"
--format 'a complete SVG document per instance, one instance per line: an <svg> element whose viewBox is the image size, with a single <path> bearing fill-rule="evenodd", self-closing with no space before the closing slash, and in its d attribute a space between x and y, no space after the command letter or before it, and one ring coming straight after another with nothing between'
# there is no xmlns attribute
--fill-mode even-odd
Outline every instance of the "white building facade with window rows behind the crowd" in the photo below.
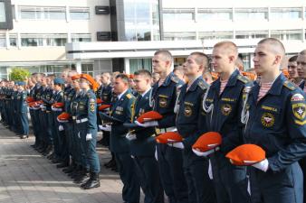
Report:
<svg viewBox="0 0 306 203"><path fill-rule="evenodd" d="M0 14L1 78L14 67L92 75L151 69L162 48L177 66L224 40L239 46L245 69L263 38L282 40L288 57L306 48L306 0L0 0L0 9L2 1L12 12ZM12 26L3 29L9 16Z"/></svg>

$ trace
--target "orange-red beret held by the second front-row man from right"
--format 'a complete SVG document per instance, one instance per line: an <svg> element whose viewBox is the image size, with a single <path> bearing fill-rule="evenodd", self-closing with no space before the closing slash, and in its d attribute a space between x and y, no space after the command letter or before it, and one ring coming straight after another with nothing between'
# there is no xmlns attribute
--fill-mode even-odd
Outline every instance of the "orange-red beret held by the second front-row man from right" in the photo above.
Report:
<svg viewBox="0 0 306 203"><path fill-rule="evenodd" d="M207 152L209 150L215 149L222 143L222 136L217 132L207 132L202 134L196 143L192 146L193 149L200 152Z"/></svg>

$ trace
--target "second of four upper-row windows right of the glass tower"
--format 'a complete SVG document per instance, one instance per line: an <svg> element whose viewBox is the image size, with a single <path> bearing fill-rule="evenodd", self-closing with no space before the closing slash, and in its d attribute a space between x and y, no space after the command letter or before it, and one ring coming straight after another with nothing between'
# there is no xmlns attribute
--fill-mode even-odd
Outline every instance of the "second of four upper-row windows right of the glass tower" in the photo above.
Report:
<svg viewBox="0 0 306 203"><path fill-rule="evenodd" d="M197 21L230 21L233 19L232 9L199 9Z"/></svg>

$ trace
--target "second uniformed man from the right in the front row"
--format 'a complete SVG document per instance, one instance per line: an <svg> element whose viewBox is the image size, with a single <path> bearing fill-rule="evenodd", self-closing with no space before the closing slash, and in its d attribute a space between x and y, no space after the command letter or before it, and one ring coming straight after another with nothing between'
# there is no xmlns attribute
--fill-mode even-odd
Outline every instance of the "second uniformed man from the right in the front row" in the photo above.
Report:
<svg viewBox="0 0 306 203"><path fill-rule="evenodd" d="M209 156L218 203L247 203L251 198L247 192L246 167L234 166L225 154L243 143L239 136L243 90L249 82L235 68L238 57L233 42L218 42L212 54L212 63L220 77L211 84L203 101L205 122L203 133L218 132L222 135L220 151ZM208 155L208 154L205 154Z"/></svg>

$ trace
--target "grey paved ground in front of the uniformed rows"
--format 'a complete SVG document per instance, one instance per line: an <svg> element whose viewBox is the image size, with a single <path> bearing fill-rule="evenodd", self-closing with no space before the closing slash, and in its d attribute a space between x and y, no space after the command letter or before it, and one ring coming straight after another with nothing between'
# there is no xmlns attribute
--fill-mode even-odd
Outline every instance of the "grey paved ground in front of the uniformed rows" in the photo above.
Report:
<svg viewBox="0 0 306 203"><path fill-rule="evenodd" d="M98 189L83 190L34 151L33 137L21 140L0 125L0 203L121 203L118 174L101 167ZM101 164L110 154L99 148Z"/></svg>

